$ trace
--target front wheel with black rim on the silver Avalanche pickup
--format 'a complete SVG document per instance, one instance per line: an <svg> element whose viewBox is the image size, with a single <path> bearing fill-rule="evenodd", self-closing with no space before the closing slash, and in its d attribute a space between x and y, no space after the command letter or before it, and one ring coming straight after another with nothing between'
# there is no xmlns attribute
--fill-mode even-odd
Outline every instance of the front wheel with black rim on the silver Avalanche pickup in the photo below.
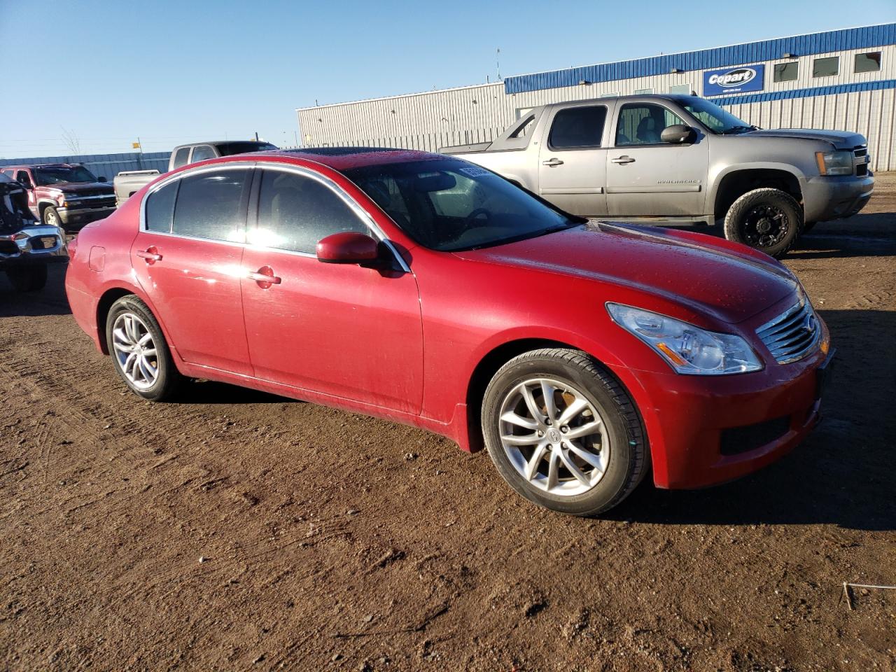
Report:
<svg viewBox="0 0 896 672"><path fill-rule="evenodd" d="M797 242L803 209L793 196L763 187L732 203L725 215L725 237L780 259Z"/></svg>

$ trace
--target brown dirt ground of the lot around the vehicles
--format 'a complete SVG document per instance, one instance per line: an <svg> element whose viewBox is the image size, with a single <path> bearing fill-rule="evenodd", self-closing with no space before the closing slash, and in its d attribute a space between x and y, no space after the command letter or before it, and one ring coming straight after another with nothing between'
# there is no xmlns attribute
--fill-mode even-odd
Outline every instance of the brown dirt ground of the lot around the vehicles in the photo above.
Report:
<svg viewBox="0 0 896 672"><path fill-rule="evenodd" d="M826 419L724 487L539 510L485 453L218 383L138 401L0 280L0 668L893 670L896 174L786 263Z"/></svg>

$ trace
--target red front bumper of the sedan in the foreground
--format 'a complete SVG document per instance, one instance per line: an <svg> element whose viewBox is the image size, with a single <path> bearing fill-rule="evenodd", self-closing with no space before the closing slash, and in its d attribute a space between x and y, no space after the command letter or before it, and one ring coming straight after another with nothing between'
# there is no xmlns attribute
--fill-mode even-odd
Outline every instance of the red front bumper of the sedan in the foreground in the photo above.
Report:
<svg viewBox="0 0 896 672"><path fill-rule="evenodd" d="M832 355L827 325L818 319L819 347L791 364L772 361L762 371L723 376L629 372L649 395L639 406L658 487L740 478L806 438L821 419L818 371Z"/></svg>

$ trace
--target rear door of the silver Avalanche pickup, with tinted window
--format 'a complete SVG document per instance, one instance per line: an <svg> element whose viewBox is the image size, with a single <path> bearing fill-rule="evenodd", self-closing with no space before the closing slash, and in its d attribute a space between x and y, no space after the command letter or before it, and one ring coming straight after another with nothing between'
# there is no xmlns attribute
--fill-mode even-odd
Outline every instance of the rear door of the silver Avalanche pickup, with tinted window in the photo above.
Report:
<svg viewBox="0 0 896 672"><path fill-rule="evenodd" d="M547 120L547 139L538 151L538 191L567 212L607 214L608 111L605 103L574 105L555 109Z"/></svg>

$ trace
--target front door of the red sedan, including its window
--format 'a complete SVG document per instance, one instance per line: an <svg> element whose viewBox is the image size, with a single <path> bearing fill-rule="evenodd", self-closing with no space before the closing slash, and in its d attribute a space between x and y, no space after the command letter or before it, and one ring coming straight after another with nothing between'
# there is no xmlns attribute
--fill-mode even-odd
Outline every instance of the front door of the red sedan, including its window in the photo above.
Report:
<svg viewBox="0 0 896 672"><path fill-rule="evenodd" d="M405 271L320 263L315 255L318 240L340 231L382 237L373 221L337 185L304 168L264 168L257 200L242 280L254 375L418 413L417 280ZM276 280L259 281L267 276Z"/></svg>

